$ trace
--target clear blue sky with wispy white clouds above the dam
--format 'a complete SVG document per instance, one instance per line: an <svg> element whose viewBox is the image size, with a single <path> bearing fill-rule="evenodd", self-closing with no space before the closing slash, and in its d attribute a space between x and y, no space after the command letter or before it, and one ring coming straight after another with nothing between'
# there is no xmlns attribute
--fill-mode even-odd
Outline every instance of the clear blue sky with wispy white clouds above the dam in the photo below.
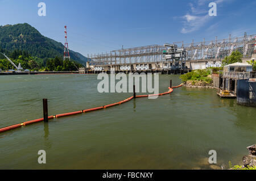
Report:
<svg viewBox="0 0 256 181"><path fill-rule="evenodd" d="M38 16L38 3L46 16ZM209 16L210 2L217 16ZM192 39L202 41L256 34L254 0L0 0L0 25L29 23L64 44L68 26L69 48L84 54Z"/></svg>

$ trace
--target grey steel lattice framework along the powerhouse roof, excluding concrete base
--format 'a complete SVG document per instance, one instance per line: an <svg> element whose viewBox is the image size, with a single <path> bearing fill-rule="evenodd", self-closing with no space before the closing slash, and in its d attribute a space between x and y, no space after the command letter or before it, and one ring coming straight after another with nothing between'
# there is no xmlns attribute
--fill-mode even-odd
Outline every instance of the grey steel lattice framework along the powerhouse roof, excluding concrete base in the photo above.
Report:
<svg viewBox="0 0 256 181"><path fill-rule="evenodd" d="M203 41L184 44L183 41L177 44L178 48L184 48L187 52L187 61L202 59L220 59L229 56L234 50L238 50L243 57L251 57L254 50L254 35L241 37L231 37L228 39L218 40L217 37L213 41ZM168 47L164 45L148 45L144 47L135 47L127 49L113 50L110 53L94 54L90 58L90 65L118 65L118 64L146 64L150 62L160 62L163 57L163 50Z"/></svg>

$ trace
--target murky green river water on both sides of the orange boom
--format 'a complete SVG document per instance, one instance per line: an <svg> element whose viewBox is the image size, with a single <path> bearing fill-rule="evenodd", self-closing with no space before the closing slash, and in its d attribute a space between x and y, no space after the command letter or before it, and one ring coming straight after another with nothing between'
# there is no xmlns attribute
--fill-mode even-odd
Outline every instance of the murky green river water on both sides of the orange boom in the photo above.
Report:
<svg viewBox="0 0 256 181"><path fill-rule="evenodd" d="M159 91L180 84L159 75ZM99 93L97 75L0 77L0 128L49 115L118 102L132 93ZM220 99L216 90L180 87L158 99L36 123L0 133L0 169L212 169L242 163L256 144L256 108ZM38 151L46 150L46 164ZM214 168L220 168L220 167Z"/></svg>

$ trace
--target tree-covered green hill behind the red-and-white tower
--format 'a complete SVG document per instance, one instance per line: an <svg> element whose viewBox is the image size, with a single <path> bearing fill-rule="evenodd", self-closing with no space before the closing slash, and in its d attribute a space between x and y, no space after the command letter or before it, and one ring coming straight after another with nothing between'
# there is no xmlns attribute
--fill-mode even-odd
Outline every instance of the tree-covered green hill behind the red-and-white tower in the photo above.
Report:
<svg viewBox="0 0 256 181"><path fill-rule="evenodd" d="M27 50L33 57L42 59L63 56L64 45L41 35L36 28L30 24L14 24L0 26L0 48L13 51ZM69 50L71 58L81 64L87 61L85 56L78 52Z"/></svg>

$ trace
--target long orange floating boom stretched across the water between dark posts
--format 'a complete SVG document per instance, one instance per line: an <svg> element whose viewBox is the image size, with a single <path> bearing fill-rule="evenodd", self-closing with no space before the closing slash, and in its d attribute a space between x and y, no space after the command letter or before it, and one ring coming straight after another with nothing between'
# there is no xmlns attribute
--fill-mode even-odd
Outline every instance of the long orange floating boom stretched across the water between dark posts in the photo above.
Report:
<svg viewBox="0 0 256 181"><path fill-rule="evenodd" d="M173 89L181 87L181 86L183 86L183 83L181 83L179 86L168 87L168 91L167 92L163 92L163 93L160 93L160 94L136 95L135 98L145 98L145 97L148 97L148 96L156 96L156 95L160 96L160 95L171 94L171 92L174 91ZM55 117L57 118L57 117L76 115L76 114L79 114L79 113L82 113L82 112L86 113L86 112L90 112L90 111L97 111L97 110L101 110L101 109L104 109L104 108L108 108L108 107L112 107L112 106L117 106L119 104L123 104L123 103L129 102L131 99L134 99L134 96L131 96L130 98L127 98L125 100L121 100L120 102L117 102L117 103L108 104L106 106L95 107L95 108L90 108L90 109L87 109L87 110L81 110L81 111L75 111L75 112L62 113L62 114L55 115L55 116L48 116L48 119L54 119ZM31 120L31 121L26 121L26 122L19 123L19 124L10 125L9 127L0 128L0 133L1 132L9 131L11 129L20 128L22 126L26 126L26 125L29 125L29 124L39 123L39 122L41 122L43 120L44 120L43 118L40 118L40 119Z"/></svg>

